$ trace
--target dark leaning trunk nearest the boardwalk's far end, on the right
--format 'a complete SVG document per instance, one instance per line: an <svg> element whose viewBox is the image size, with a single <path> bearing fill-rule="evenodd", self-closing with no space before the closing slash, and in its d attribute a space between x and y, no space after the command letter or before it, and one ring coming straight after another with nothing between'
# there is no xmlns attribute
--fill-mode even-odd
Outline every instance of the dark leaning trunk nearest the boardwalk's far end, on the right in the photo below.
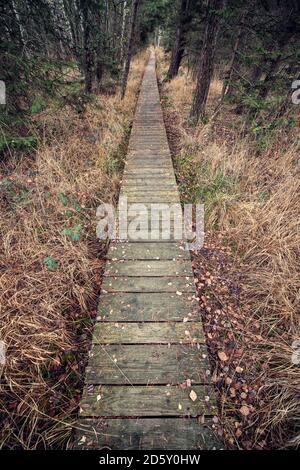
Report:
<svg viewBox="0 0 300 470"><path fill-rule="evenodd" d="M170 67L167 79L171 80L178 74L185 46L186 21L189 10L189 0L181 0L180 11L177 19L175 43L172 49Z"/></svg>

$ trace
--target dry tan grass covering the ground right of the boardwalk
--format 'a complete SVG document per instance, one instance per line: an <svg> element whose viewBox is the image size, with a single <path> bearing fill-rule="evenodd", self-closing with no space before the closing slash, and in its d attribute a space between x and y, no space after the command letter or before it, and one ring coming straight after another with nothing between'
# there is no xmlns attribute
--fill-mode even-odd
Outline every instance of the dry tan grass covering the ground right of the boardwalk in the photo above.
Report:
<svg viewBox="0 0 300 470"><path fill-rule="evenodd" d="M292 342L300 331L297 129L278 130L259 154L257 142L245 137L243 123L229 106L215 121L191 129L186 118L192 89L186 71L164 88L167 113L180 135L174 161L181 194L189 201L204 201L207 230L232 247L243 292L239 315L249 329L253 324L258 328L255 341L246 338L245 367L260 389L248 426L252 441L244 447L255 448L257 442L260 448L295 446L300 444L300 369L291 361ZM220 91L220 81L214 80L210 113ZM225 438L230 445L243 447L230 418L237 412L236 404L223 399Z"/></svg>

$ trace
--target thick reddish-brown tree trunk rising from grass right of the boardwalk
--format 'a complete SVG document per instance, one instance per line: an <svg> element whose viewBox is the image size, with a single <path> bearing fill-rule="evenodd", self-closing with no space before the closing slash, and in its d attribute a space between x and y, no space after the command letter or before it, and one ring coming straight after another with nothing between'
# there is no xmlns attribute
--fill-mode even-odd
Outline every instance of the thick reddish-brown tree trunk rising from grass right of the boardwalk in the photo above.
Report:
<svg viewBox="0 0 300 470"><path fill-rule="evenodd" d="M205 106L214 71L216 43L220 27L220 20L217 13L218 10L221 10L223 5L223 0L209 0L207 5L204 41L197 72L197 84L190 112L190 118L195 124L197 124L199 119L204 119L205 117Z"/></svg>

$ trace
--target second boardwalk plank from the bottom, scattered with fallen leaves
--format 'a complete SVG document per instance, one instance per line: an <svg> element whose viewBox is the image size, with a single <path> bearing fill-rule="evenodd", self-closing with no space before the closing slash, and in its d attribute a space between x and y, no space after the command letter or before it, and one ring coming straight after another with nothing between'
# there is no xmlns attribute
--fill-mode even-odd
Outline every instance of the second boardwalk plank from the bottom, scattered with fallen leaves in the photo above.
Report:
<svg viewBox="0 0 300 470"><path fill-rule="evenodd" d="M195 401L190 398L193 390ZM217 407L214 391L207 385L143 387L100 385L85 387L80 416L211 416Z"/></svg>

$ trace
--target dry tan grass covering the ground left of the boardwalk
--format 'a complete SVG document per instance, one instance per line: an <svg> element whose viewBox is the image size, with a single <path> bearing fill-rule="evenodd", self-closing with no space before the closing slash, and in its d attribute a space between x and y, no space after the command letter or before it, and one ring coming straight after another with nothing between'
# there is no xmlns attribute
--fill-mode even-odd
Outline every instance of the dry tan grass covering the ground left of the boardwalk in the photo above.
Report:
<svg viewBox="0 0 300 470"><path fill-rule="evenodd" d="M95 209L116 201L145 54L127 94L98 95L83 117L47 110L35 155L1 164L2 448L65 446L81 391L101 254ZM86 354L83 354L85 357Z"/></svg>

